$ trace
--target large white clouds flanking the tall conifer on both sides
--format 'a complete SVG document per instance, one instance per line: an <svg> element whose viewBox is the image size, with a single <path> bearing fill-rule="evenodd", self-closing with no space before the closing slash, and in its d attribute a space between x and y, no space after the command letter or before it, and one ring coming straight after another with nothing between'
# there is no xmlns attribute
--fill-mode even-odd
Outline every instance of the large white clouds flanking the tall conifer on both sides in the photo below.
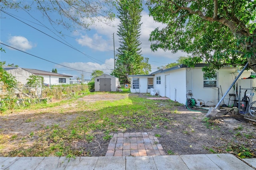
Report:
<svg viewBox="0 0 256 170"><path fill-rule="evenodd" d="M163 49L158 49L157 51L153 52L150 49L150 45L152 42L149 41L150 33L156 28L164 28L166 25L155 22L153 17L150 17L145 11L141 13L141 30L140 30L140 42L141 42L141 50L142 56L148 57L150 60L154 60L156 57L167 58L167 63L175 62L176 59L180 56L186 56L186 53L178 51L178 53L172 53L171 51L164 51ZM88 20L88 19L84 19ZM98 51L108 51L113 50L113 33L115 38L115 49L117 49L119 44L119 38L116 33L118 30L118 24L120 24L119 18L115 18L110 25L102 24L95 20L95 24L90 26L90 32L87 34L82 35L80 34L80 38L77 39L77 42L82 46L90 47L91 49L98 50ZM112 27L112 25L114 27ZM92 34L89 34L93 32Z"/></svg>

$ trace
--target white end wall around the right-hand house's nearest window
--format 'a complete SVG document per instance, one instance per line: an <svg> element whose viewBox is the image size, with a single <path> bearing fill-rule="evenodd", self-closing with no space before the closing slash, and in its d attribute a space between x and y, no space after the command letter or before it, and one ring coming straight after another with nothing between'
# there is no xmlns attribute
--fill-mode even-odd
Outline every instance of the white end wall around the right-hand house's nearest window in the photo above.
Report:
<svg viewBox="0 0 256 170"><path fill-rule="evenodd" d="M224 93L226 93L231 83L234 81L235 76L238 75L238 73L234 72L235 68L220 69L217 71L217 87L204 87L202 68L186 68L186 93L188 93L188 90L191 90L192 98L203 100L205 105L215 106L218 103L218 87L220 88L221 86L222 89L222 92L221 89L219 89L219 99L221 99L222 94L224 95ZM250 75L251 71L244 71L241 77L249 77ZM228 93L235 93L235 89L231 88ZM190 95L188 95L188 97L190 97ZM229 95L226 95L224 98L224 103L226 105L228 105L228 99Z"/></svg>

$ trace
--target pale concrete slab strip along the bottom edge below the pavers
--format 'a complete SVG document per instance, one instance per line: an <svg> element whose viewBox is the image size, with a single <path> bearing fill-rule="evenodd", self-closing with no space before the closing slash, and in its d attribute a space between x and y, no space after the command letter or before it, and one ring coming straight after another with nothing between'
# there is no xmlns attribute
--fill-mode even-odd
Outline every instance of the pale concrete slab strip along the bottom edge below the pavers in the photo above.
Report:
<svg viewBox="0 0 256 170"><path fill-rule="evenodd" d="M250 165L254 166L252 168ZM92 157L0 157L0 170L255 170L256 158L232 154Z"/></svg>

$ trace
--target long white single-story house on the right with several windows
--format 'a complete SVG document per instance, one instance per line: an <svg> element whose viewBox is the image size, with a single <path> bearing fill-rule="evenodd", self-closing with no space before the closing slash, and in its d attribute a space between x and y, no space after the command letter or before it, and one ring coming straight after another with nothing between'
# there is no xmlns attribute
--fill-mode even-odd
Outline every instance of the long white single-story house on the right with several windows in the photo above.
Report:
<svg viewBox="0 0 256 170"><path fill-rule="evenodd" d="M168 69L158 70L150 75L129 75L131 78L130 90L132 93L150 93L150 88L154 88L158 95L170 98L179 103L186 103L186 97L204 101L205 105L214 106L222 98L222 94L226 93L235 77L238 75L238 69L226 66L217 70L213 79L204 79L202 67L206 64L196 64L194 68L186 65L178 65ZM240 76L238 83L244 84L241 79L250 77L254 71L244 71ZM153 87L152 87L153 79ZM236 94L239 84L228 93ZM250 85L252 87L254 85ZM221 88L220 88L221 87ZM236 88L237 87L237 88ZM242 87L243 88L243 87ZM245 87L244 87L245 88ZM247 88L247 87L246 87ZM223 92L223 93L222 93ZM224 99L224 103L228 105L229 95Z"/></svg>

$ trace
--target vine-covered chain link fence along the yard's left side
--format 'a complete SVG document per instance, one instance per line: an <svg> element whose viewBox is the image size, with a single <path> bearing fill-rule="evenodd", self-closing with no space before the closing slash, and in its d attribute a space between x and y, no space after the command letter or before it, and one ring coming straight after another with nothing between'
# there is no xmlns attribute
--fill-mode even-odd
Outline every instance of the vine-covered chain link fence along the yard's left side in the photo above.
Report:
<svg viewBox="0 0 256 170"><path fill-rule="evenodd" d="M0 111L36 103L47 103L52 99L70 99L82 94L87 85L60 85L46 87L20 87L4 91L0 89Z"/></svg>

